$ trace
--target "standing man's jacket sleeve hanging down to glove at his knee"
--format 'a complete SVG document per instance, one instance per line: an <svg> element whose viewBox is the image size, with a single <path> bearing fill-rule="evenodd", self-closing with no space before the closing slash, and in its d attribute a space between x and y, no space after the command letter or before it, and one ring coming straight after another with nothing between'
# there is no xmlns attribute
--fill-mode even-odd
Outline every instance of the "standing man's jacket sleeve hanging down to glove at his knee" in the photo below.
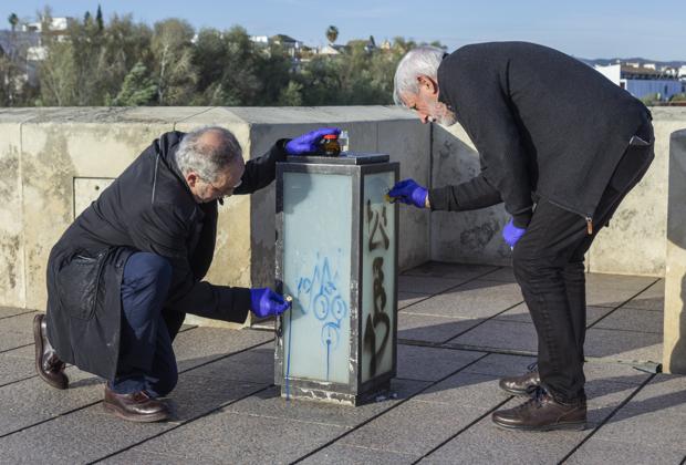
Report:
<svg viewBox="0 0 686 465"><path fill-rule="evenodd" d="M512 114L508 66L459 51L445 61L439 69L440 92L445 87L446 99L481 156L481 176L500 193L514 224L526 227L531 218L532 186L528 154Z"/></svg>

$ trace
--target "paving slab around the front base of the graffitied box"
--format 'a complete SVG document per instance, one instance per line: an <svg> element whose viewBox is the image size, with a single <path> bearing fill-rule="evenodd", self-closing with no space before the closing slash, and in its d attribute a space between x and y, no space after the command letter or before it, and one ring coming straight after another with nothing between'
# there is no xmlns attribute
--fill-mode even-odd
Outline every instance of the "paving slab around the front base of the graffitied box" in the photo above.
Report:
<svg viewBox="0 0 686 465"><path fill-rule="evenodd" d="M430 385L429 382L423 381L392 380L391 390L397 394L397 399L386 399L383 402L372 402L356 407L312 401L287 401L280 396L280 388L273 386L228 406L226 411L271 418L354 427L392 409L398 402L415 395L428 385Z"/></svg>

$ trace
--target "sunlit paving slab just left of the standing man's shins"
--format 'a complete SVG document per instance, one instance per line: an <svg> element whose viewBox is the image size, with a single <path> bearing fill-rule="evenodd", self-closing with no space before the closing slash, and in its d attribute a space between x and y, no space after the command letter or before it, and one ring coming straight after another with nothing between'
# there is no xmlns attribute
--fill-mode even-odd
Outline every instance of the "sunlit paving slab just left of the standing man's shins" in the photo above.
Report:
<svg viewBox="0 0 686 465"><path fill-rule="evenodd" d="M523 300L517 285L476 280L423 302L404 312L457 318L490 318Z"/></svg>

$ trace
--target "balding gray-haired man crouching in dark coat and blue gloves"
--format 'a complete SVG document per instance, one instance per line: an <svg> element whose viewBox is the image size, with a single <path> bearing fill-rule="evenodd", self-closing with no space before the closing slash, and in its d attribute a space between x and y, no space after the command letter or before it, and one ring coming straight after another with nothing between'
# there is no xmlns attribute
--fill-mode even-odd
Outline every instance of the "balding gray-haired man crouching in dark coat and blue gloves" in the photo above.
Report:
<svg viewBox="0 0 686 465"><path fill-rule="evenodd" d="M222 127L154 141L69 227L48 262L48 313L33 322L41 379L66 389L65 363L107 381L104 407L128 421L166 420L177 382L172 341L186 313L243 322L290 306L269 288L202 280L212 261L217 205L276 176L287 154L315 152L337 128L278 141L243 163ZM227 264L230 266L231 264Z"/></svg>

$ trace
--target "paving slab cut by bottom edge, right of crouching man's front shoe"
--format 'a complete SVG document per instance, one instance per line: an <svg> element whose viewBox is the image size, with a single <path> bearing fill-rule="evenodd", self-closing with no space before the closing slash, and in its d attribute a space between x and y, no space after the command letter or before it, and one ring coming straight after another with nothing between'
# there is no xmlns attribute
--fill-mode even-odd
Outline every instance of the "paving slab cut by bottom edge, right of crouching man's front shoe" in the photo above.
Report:
<svg viewBox="0 0 686 465"><path fill-rule="evenodd" d="M186 457L190 462L198 457L232 464L283 464L346 431L334 425L220 411L150 440L141 450Z"/></svg>

